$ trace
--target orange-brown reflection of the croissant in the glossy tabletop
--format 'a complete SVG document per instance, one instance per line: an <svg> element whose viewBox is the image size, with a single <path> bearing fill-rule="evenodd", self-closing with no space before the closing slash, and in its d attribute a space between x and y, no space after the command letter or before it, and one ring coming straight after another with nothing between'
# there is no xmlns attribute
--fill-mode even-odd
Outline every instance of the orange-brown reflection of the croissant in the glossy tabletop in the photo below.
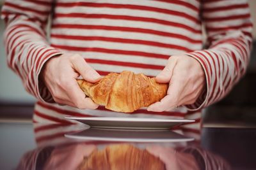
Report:
<svg viewBox="0 0 256 170"><path fill-rule="evenodd" d="M111 145L84 157L79 170L164 170L164 163L146 150L132 145Z"/></svg>

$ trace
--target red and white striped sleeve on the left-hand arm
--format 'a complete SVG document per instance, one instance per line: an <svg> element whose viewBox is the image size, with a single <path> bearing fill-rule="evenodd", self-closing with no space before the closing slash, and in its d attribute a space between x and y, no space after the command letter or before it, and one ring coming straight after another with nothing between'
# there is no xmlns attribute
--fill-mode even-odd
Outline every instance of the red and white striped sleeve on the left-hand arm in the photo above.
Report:
<svg viewBox="0 0 256 170"><path fill-rule="evenodd" d="M6 23L4 44L8 66L20 76L25 89L42 101L51 99L51 94L41 87L38 76L44 63L60 54L47 43L45 36L51 10L51 0L6 0L1 15Z"/></svg>

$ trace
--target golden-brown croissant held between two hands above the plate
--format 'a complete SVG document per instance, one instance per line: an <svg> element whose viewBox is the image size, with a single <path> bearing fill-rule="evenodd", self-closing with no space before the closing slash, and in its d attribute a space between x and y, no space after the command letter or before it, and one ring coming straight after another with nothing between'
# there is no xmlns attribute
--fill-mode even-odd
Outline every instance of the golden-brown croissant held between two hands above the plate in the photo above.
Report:
<svg viewBox="0 0 256 170"><path fill-rule="evenodd" d="M97 83L77 80L86 96L109 110L132 112L160 101L168 89L167 84L157 83L155 78L131 71L109 73Z"/></svg>

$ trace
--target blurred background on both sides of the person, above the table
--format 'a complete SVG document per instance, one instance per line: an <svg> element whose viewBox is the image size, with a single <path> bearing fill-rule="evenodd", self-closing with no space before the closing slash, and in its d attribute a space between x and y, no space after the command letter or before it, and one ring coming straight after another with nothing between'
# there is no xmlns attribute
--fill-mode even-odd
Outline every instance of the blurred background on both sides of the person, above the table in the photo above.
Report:
<svg viewBox="0 0 256 170"><path fill-rule="evenodd" d="M256 39L256 1L249 0ZM3 0L0 0L0 9ZM0 117L15 117L31 120L35 98L29 95L22 86L20 78L13 73L6 64L6 53L3 45L4 22L0 20ZM213 124L230 122L230 125L256 123L256 41L253 42L253 51L250 66L243 79L234 87L232 92L219 103L205 110L204 122Z"/></svg>

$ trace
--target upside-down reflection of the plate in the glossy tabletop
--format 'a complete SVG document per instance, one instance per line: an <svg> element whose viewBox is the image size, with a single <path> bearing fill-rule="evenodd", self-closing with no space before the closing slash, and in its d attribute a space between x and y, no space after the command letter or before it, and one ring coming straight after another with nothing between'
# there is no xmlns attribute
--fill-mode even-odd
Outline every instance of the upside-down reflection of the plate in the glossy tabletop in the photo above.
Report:
<svg viewBox="0 0 256 170"><path fill-rule="evenodd" d="M89 141L122 141L122 142L186 142L193 141L173 131L131 130L131 129L97 129L90 128L65 137Z"/></svg>

